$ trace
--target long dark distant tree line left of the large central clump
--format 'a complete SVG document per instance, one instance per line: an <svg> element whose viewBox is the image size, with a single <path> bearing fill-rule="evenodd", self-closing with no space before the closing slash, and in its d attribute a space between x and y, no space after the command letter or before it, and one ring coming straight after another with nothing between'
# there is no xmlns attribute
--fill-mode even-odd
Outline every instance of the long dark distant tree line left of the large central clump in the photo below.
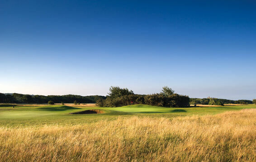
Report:
<svg viewBox="0 0 256 162"><path fill-rule="evenodd" d="M48 103L53 101L54 103L96 103L98 99L106 99L105 96L100 95L29 95L29 94L2 94L0 93L0 103Z"/></svg>

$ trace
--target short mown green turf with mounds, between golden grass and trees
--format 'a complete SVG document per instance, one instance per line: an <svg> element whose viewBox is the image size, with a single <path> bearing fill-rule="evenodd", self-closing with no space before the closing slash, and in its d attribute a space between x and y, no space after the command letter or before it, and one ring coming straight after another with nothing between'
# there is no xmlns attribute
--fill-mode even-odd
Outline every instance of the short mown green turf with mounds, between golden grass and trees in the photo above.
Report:
<svg viewBox="0 0 256 162"><path fill-rule="evenodd" d="M34 125L76 125L99 120L114 120L117 117L150 116L173 118L186 115L216 114L236 111L243 108L256 108L255 104L222 107L163 108L149 105L131 105L118 108L69 107L65 105L46 105L33 107L0 107L0 126ZM101 114L70 114L90 109L100 109Z"/></svg>

